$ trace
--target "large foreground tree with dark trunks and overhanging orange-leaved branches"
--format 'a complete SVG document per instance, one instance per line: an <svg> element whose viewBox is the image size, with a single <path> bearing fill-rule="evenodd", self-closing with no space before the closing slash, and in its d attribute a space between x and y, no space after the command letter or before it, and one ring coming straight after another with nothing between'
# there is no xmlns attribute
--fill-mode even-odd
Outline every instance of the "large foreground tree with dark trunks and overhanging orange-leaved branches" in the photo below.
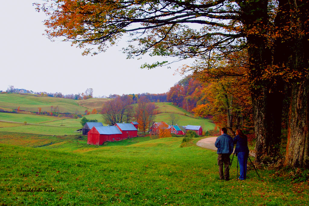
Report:
<svg viewBox="0 0 309 206"><path fill-rule="evenodd" d="M101 53L129 33L131 38L124 49L128 58L146 53L176 57L177 61L196 58L196 65L185 69L193 69L205 79L208 75L226 80L240 78L240 82L246 79L257 163L276 160L285 97L289 96L284 165L308 168L308 1L53 1L56 6L50 6L53 4L49 1L36 4L38 11L48 15L44 22L47 35L86 47L84 55ZM193 24L199 27L190 27ZM245 72L220 71L230 66L239 68L234 61L229 63L231 55L245 57L248 64L240 68ZM146 63L142 68L166 63ZM214 74L209 72L213 65L218 69ZM228 86L226 82L224 85Z"/></svg>

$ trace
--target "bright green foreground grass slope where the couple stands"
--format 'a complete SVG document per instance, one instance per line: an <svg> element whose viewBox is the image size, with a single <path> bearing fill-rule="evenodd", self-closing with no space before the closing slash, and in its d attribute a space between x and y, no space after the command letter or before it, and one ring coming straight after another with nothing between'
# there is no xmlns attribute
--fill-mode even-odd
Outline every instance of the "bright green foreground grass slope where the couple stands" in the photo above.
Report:
<svg viewBox="0 0 309 206"><path fill-rule="evenodd" d="M0 144L0 200L4 205L308 204L307 182L294 184L274 171L259 170L262 179L250 169L245 181L218 180L216 152L197 147L197 140L183 148L180 137L81 148L78 142L85 140L77 140L67 145L70 152ZM234 165L231 177L235 174ZM18 192L21 188L42 191Z"/></svg>

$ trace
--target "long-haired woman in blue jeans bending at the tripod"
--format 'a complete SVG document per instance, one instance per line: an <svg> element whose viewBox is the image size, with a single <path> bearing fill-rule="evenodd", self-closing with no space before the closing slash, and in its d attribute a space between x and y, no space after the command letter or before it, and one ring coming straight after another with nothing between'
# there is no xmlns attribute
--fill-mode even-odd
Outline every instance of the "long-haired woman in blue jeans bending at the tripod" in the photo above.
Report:
<svg viewBox="0 0 309 206"><path fill-rule="evenodd" d="M236 130L236 137L234 137L235 154L239 161L240 174L239 179L244 180L247 176L247 162L249 156L248 138L240 129Z"/></svg>

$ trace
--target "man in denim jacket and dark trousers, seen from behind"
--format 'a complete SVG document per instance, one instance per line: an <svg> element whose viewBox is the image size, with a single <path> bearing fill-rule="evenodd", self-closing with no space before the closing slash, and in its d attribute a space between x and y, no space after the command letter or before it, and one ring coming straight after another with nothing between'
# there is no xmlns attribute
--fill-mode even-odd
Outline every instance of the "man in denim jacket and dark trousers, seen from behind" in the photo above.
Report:
<svg viewBox="0 0 309 206"><path fill-rule="evenodd" d="M230 155L233 153L234 144L233 139L230 135L226 134L227 129L224 127L221 129L221 135L216 139L214 145L218 148L218 165L220 179L230 180L229 165L231 163ZM224 174L223 174L223 163L224 163Z"/></svg>

